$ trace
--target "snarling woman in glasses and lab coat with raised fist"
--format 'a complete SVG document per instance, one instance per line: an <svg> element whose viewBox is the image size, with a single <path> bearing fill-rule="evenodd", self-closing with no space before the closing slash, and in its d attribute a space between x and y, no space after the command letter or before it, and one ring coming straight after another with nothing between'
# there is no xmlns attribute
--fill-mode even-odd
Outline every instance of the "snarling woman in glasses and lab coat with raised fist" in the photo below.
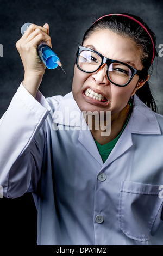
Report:
<svg viewBox="0 0 163 256"><path fill-rule="evenodd" d="M51 46L48 31L31 25L16 45L24 80L0 126L4 196L33 193L39 245L162 245L153 32L133 15L101 17L78 49L72 92L45 99L36 49Z"/></svg>

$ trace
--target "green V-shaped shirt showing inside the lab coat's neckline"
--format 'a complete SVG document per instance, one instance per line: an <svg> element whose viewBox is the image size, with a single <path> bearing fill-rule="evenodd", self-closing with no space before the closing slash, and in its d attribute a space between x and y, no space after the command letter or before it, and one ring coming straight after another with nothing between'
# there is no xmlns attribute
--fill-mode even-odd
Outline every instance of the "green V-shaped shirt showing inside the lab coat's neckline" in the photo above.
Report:
<svg viewBox="0 0 163 256"><path fill-rule="evenodd" d="M130 102L129 102L129 104L130 104L130 110L129 110L128 118L127 118L127 121L124 124L120 134L118 134L118 136L113 141L111 141L109 143L106 143L104 145L101 145L97 141L95 141L96 145L97 145L97 148L98 148L98 151L99 151L99 154L101 155L103 162L105 162L106 159L108 158L108 156L110 155L111 150L114 148L114 146L117 143L118 139L120 138L122 132L124 131L126 125L128 124L128 121L129 121L129 118L130 118L130 115L131 115L131 112L132 112L132 105L131 105Z"/></svg>

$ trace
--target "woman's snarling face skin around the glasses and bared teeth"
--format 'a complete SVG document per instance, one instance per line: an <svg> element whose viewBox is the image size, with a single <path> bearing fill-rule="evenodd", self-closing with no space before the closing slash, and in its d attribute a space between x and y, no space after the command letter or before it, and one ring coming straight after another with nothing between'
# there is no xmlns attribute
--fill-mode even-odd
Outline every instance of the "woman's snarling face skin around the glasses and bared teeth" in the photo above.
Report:
<svg viewBox="0 0 163 256"><path fill-rule="evenodd" d="M84 41L83 46L92 48L109 59L128 63L138 70L143 68L140 51L134 42L108 29L93 32ZM130 96L135 93L138 80L139 76L135 75L128 86L118 87L108 80L106 64L92 74L79 70L75 65L72 92L81 111L111 111L111 114L114 114L120 112L127 105ZM86 96L87 89L102 94L106 101L102 102Z"/></svg>

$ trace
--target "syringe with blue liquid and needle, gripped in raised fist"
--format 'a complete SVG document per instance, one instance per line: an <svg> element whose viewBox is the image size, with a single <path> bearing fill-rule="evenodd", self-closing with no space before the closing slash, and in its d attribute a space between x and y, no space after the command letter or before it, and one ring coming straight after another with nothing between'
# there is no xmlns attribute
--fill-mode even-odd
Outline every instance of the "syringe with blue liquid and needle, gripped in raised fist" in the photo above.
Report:
<svg viewBox="0 0 163 256"><path fill-rule="evenodd" d="M31 25L32 23L25 23L21 27L21 34L23 35L27 28ZM46 44L46 42L41 42L40 45L37 47L37 52L39 54L40 59L42 62L46 65L48 69L55 69L57 66L60 66L60 68L64 71L66 74L65 70L62 68L62 64L58 58L58 56L52 51L52 48Z"/></svg>

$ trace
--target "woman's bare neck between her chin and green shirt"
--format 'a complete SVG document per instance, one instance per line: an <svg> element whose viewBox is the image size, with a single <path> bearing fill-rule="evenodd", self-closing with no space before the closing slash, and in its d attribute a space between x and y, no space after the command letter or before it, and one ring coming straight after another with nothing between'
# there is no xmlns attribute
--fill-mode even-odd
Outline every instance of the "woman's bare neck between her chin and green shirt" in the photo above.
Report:
<svg viewBox="0 0 163 256"><path fill-rule="evenodd" d="M104 116L85 115L85 119L93 138L101 145L115 139L121 132L123 125L128 118L130 106L127 104L122 111L114 114L110 112Z"/></svg>

